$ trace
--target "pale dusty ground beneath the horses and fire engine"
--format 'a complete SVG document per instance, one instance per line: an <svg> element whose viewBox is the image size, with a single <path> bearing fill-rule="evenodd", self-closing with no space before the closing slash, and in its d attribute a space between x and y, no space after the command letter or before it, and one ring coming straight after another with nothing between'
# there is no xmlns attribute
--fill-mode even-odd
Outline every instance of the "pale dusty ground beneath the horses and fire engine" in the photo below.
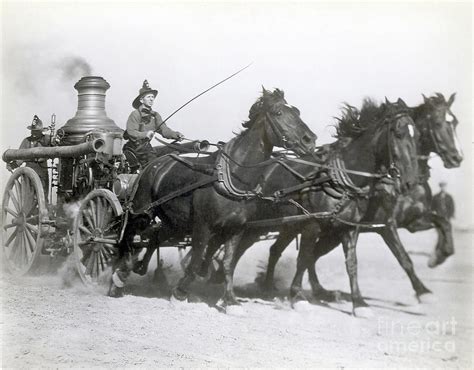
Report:
<svg viewBox="0 0 474 370"><path fill-rule="evenodd" d="M361 237L360 286L370 297L370 319L351 316L348 302L295 310L283 296L273 302L247 299L241 312L222 314L205 303L157 297L151 276L135 277L129 295L113 299L71 281L66 269L21 279L4 274L2 367L472 368L472 234L457 233L456 255L432 270L426 252L434 238L433 232L402 232L419 276L436 298L418 304L381 239ZM283 292L295 254L290 247L278 266ZM261 243L242 260L236 273L241 296L254 295L252 283L267 255ZM168 250L164 258L173 265L168 271L173 280L178 253ZM348 291L343 261L336 250L318 263L327 288Z"/></svg>

